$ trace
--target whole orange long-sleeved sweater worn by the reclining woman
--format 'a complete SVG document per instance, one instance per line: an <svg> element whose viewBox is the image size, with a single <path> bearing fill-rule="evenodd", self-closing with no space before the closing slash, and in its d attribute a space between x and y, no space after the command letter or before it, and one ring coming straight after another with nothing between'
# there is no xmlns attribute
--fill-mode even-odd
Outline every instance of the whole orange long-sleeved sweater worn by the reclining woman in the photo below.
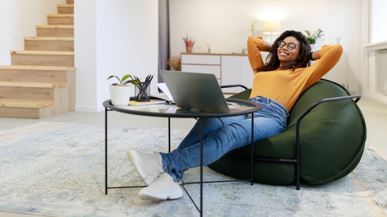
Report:
<svg viewBox="0 0 387 217"><path fill-rule="evenodd" d="M292 109L300 94L318 82L340 60L341 45L325 45L320 50L320 59L313 65L296 70L275 70L257 72L254 69L264 63L261 51L265 51L262 39L249 37L247 42L250 65L255 73L250 98L267 97L282 104L288 111Z"/></svg>

